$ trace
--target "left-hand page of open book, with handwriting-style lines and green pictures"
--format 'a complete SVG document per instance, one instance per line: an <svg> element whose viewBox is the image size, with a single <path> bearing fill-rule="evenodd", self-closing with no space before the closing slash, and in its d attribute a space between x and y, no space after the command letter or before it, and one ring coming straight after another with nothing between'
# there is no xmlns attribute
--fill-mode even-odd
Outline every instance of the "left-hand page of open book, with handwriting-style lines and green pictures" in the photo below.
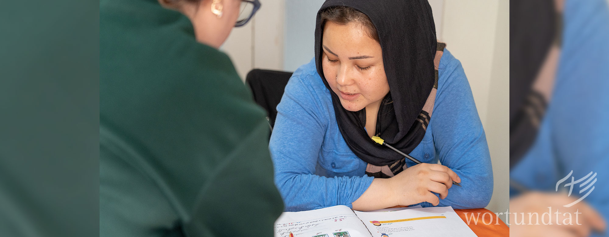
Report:
<svg viewBox="0 0 609 237"><path fill-rule="evenodd" d="M370 232L345 205L284 212L275 221L275 237L370 237Z"/></svg>

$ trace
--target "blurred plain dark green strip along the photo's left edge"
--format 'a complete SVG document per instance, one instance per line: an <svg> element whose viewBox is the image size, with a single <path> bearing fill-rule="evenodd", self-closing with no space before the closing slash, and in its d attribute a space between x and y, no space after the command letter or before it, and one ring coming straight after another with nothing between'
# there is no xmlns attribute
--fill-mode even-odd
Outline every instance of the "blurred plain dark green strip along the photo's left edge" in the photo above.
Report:
<svg viewBox="0 0 609 237"><path fill-rule="evenodd" d="M2 1L0 236L99 233L98 7Z"/></svg>

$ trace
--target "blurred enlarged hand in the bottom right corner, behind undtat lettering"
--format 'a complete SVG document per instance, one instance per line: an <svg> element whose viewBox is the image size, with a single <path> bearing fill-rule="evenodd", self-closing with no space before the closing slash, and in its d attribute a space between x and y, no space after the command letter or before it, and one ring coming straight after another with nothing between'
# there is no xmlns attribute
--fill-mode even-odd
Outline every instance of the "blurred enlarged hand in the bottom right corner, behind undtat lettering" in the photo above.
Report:
<svg viewBox="0 0 609 237"><path fill-rule="evenodd" d="M607 228L605 220L590 205L581 201L571 207L563 207L576 200L565 193L541 192L530 192L510 199L510 236L583 237L590 236L592 231L604 232ZM543 219L543 213L549 212L548 207L552 208L552 213L549 219ZM558 218L556 211L560 212ZM580 213L579 216L576 216L576 212ZM536 225L537 215L533 214L532 220L529 221L529 213L537 213L539 225ZM569 216L563 216L561 213L571 213L571 224Z"/></svg>

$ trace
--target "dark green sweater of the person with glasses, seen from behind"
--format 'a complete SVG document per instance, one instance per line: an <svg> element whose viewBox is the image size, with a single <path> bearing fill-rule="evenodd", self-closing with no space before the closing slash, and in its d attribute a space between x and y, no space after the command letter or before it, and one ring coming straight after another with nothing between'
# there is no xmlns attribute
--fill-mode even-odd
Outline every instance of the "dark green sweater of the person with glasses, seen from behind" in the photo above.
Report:
<svg viewBox="0 0 609 237"><path fill-rule="evenodd" d="M265 112L156 0L100 0L100 236L272 236Z"/></svg>

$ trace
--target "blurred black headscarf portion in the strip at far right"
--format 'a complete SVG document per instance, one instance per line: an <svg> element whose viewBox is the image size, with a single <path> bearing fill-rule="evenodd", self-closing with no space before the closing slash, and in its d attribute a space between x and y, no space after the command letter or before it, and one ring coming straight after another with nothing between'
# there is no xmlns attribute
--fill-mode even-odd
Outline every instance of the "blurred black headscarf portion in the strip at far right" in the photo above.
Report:
<svg viewBox="0 0 609 237"><path fill-rule="evenodd" d="M533 83L552 42L560 38L560 21L553 0L510 1L510 167L537 137L538 126L531 120L543 118L547 101L533 90ZM540 104L541 109L532 106Z"/></svg>

